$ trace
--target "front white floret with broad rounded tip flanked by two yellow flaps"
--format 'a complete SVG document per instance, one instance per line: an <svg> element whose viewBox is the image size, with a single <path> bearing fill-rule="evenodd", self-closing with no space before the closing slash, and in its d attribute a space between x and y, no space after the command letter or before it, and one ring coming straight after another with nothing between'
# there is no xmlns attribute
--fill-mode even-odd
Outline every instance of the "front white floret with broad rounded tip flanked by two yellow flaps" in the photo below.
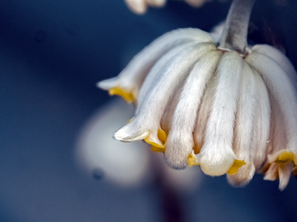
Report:
<svg viewBox="0 0 297 222"><path fill-rule="evenodd" d="M236 52L222 55L217 71L217 88L206 128L205 143L196 162L204 173L225 174L236 156L232 149L233 121L241 83L242 58Z"/></svg>

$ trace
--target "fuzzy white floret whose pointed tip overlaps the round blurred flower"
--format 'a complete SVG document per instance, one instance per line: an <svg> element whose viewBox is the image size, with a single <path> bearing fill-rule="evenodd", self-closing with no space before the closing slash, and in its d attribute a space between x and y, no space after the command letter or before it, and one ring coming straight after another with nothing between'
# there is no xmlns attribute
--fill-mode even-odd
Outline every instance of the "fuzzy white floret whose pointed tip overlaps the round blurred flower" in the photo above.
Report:
<svg viewBox="0 0 297 222"><path fill-rule="evenodd" d="M195 62L207 52L215 49L213 44L200 43L176 55L172 64L155 79L154 86L140 104L138 114L131 123L117 131L114 138L121 141L126 141L125 137L132 139L134 136L135 140L144 139L149 131L150 140L162 145L157 137L157 130L160 128L160 120L167 100L176 91L177 86L184 81Z"/></svg>

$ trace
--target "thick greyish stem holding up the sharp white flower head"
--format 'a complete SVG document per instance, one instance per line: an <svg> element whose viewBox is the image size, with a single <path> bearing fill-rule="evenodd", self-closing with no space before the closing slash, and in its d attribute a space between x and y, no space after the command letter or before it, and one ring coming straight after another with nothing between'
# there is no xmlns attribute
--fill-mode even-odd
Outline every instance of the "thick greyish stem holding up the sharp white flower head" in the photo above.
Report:
<svg viewBox="0 0 297 222"><path fill-rule="evenodd" d="M235 50L242 54L246 53L247 29L254 3L255 0L233 0L219 42L219 48Z"/></svg>

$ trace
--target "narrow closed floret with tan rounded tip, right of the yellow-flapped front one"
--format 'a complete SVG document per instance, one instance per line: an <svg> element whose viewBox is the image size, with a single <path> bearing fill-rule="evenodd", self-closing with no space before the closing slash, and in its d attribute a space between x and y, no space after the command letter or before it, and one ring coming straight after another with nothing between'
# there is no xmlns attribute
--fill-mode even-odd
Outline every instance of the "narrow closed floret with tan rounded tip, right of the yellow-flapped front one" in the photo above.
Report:
<svg viewBox="0 0 297 222"><path fill-rule="evenodd" d="M233 151L238 159L246 162L246 165L239 168L236 174L227 175L229 183L233 186L245 186L255 173L252 140L255 110L257 110L255 107L256 83L254 74L246 62L244 62L241 75L242 82L234 126Z"/></svg>

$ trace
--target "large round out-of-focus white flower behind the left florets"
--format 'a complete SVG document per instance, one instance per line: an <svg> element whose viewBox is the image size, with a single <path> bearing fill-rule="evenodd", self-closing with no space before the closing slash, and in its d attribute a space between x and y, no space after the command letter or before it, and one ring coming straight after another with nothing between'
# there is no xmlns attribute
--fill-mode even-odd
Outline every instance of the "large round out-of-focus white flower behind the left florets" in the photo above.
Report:
<svg viewBox="0 0 297 222"><path fill-rule="evenodd" d="M113 140L111 133L121 122L130 118L131 106L114 101L102 107L86 123L77 150L77 159L85 166L89 175L102 176L121 185L133 185L145 182L149 164L149 152L142 149L140 141L131 147Z"/></svg>

